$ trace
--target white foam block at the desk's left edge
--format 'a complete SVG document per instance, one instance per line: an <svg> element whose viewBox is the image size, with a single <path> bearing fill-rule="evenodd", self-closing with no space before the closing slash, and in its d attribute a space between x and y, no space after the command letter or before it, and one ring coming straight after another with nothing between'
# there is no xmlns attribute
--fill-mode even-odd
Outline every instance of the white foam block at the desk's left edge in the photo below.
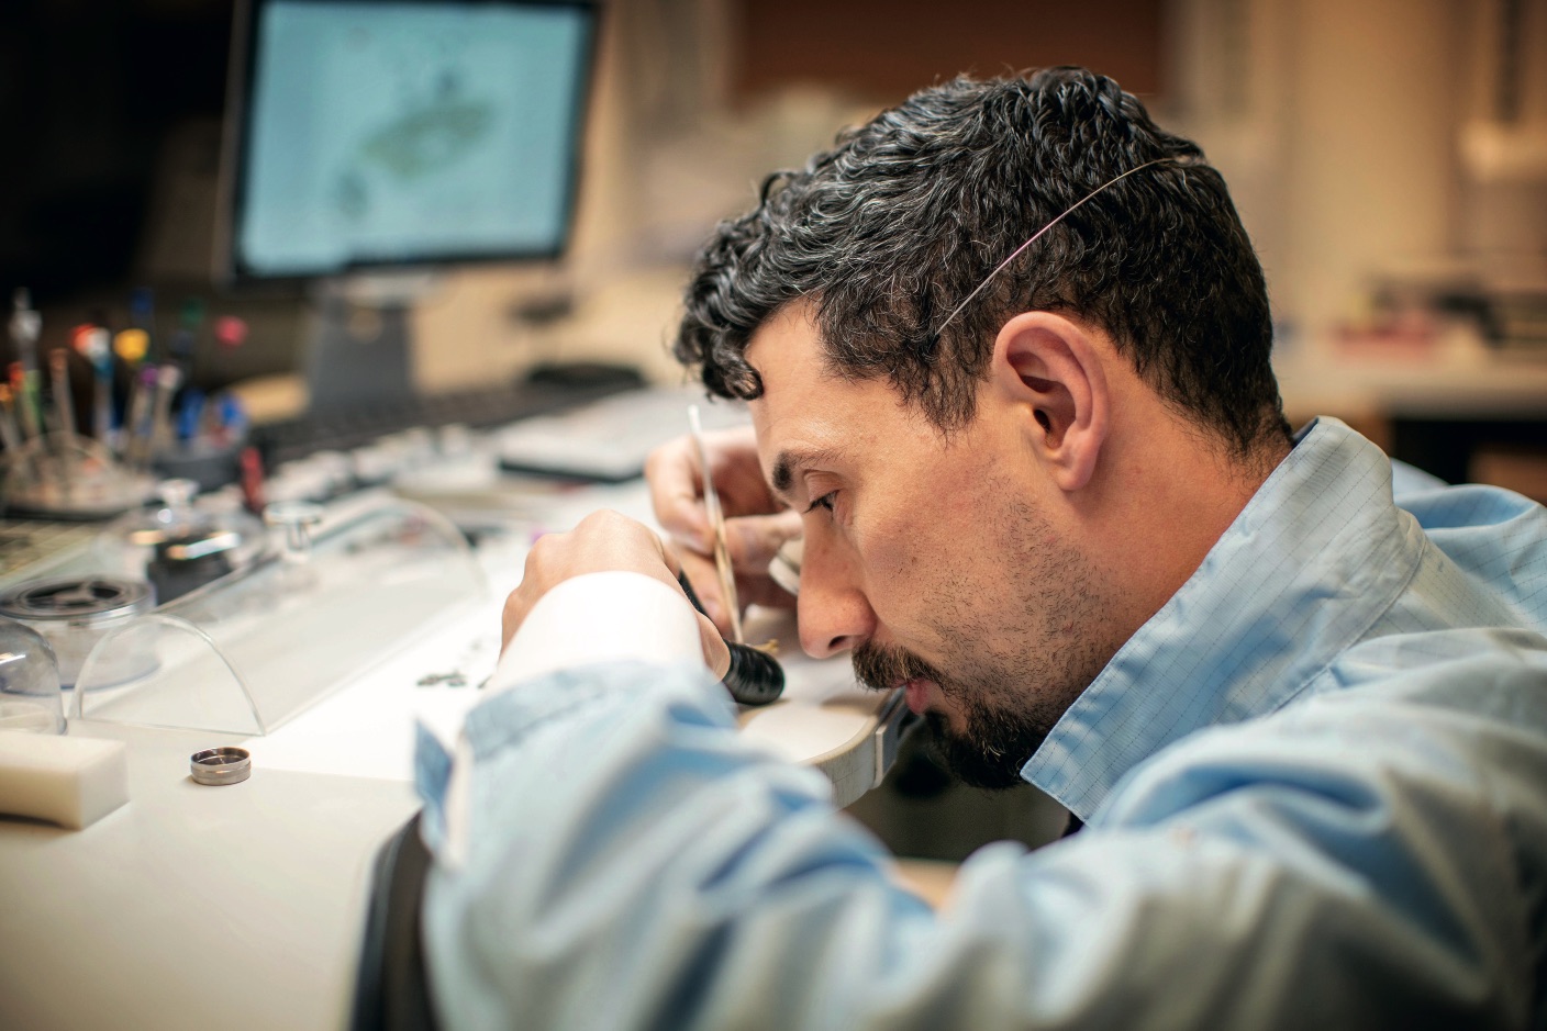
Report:
<svg viewBox="0 0 1547 1031"><path fill-rule="evenodd" d="M124 742L0 730L0 813L80 830L127 801Z"/></svg>

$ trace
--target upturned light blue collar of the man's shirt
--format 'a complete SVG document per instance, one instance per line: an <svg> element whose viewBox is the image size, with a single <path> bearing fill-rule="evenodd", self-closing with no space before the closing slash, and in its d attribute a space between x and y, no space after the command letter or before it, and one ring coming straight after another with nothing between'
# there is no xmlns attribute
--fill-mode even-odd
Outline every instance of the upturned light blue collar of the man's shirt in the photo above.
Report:
<svg viewBox="0 0 1547 1031"><path fill-rule="evenodd" d="M1290 700L1402 594L1417 563L1409 522L1386 456L1337 419L1310 424L1021 776L1091 819L1168 743Z"/></svg>

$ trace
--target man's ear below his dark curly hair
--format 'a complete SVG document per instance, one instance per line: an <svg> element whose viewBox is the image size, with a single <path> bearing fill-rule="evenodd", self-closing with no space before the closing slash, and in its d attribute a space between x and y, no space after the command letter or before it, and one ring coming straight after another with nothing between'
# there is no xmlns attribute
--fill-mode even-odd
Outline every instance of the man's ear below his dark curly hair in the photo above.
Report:
<svg viewBox="0 0 1547 1031"><path fill-rule="evenodd" d="M1058 487L1084 487L1106 444L1112 403L1091 332L1054 312L1021 312L999 328L990 379L1024 408L1026 433Z"/></svg>

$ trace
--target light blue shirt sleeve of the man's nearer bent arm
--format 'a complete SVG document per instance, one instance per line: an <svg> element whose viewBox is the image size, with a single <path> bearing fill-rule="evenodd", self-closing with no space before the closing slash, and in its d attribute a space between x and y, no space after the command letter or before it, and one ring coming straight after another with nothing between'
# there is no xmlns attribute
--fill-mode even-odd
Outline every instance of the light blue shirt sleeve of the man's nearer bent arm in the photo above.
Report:
<svg viewBox="0 0 1547 1031"><path fill-rule="evenodd" d="M1456 683L1477 697L1451 705ZM1199 734L1083 833L976 853L944 914L890 881L820 774L741 742L715 686L611 662L473 709L467 853L424 906L444 1026L1542 1019L1539 671L1477 663Z"/></svg>

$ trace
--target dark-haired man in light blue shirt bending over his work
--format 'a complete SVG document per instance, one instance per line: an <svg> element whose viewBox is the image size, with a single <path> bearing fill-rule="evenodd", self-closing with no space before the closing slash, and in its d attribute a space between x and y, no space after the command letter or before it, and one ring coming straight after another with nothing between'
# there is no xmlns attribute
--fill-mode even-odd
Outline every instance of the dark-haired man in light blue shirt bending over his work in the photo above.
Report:
<svg viewBox="0 0 1547 1031"><path fill-rule="evenodd" d="M1269 348L1224 182L1108 79L925 90L770 179L678 342L750 400L744 555L798 519L803 646L1086 829L931 912L736 739L679 560L593 516L425 753L446 1022L1544 1026L1547 519L1411 470L1397 507L1346 427L1289 433ZM701 539L695 476L653 487Z"/></svg>

